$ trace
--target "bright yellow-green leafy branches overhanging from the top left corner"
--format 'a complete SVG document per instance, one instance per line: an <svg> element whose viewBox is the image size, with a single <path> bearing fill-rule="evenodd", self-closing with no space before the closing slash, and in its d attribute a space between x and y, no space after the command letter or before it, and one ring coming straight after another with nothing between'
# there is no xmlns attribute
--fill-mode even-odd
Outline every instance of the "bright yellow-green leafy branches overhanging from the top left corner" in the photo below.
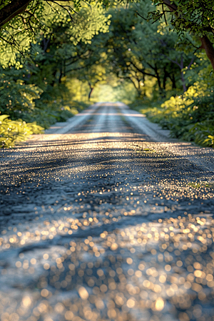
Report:
<svg viewBox="0 0 214 321"><path fill-rule="evenodd" d="M17 3L19 1L21 0ZM16 1L8 2L4 1L0 6L0 18L4 10L13 9L16 3ZM21 2L19 4L21 6ZM56 41L58 29L64 32L63 38L70 44L76 45L80 41L90 44L93 36L98 32L107 32L110 24L110 16L106 14L103 6L95 3L91 3L90 6L74 1L71 8L71 3L67 1L61 4L61 1L38 0L30 1L28 6L21 8L24 9L17 10L15 16L9 11L8 17L4 19L4 22L7 22L0 30L2 66L16 63L19 67L21 62L17 61L17 54L20 58L33 58L32 54L31 57L28 55L32 44L39 43L39 39L41 41L46 39L48 43ZM35 48L34 56L37 52Z"/></svg>

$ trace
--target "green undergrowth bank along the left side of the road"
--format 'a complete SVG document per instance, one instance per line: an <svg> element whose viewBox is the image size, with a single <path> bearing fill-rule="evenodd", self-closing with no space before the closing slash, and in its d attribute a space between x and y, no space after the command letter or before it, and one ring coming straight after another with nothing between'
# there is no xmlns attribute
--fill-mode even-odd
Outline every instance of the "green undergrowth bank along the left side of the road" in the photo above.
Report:
<svg viewBox="0 0 214 321"><path fill-rule="evenodd" d="M45 85L34 72L0 67L0 148L12 148L31 134L41 133L57 121L66 121L88 107L73 101L64 83ZM36 73L37 75L37 73ZM36 86L31 81L39 83Z"/></svg>

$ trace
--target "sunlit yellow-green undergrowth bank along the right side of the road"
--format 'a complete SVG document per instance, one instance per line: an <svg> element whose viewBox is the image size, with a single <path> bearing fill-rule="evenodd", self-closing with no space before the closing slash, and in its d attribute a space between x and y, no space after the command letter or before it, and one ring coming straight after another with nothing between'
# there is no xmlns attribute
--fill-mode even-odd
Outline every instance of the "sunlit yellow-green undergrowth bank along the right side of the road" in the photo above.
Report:
<svg viewBox="0 0 214 321"><path fill-rule="evenodd" d="M168 101L136 101L130 107L169 129L173 138L214 148L214 93L206 85L194 83L183 95L172 96Z"/></svg>

